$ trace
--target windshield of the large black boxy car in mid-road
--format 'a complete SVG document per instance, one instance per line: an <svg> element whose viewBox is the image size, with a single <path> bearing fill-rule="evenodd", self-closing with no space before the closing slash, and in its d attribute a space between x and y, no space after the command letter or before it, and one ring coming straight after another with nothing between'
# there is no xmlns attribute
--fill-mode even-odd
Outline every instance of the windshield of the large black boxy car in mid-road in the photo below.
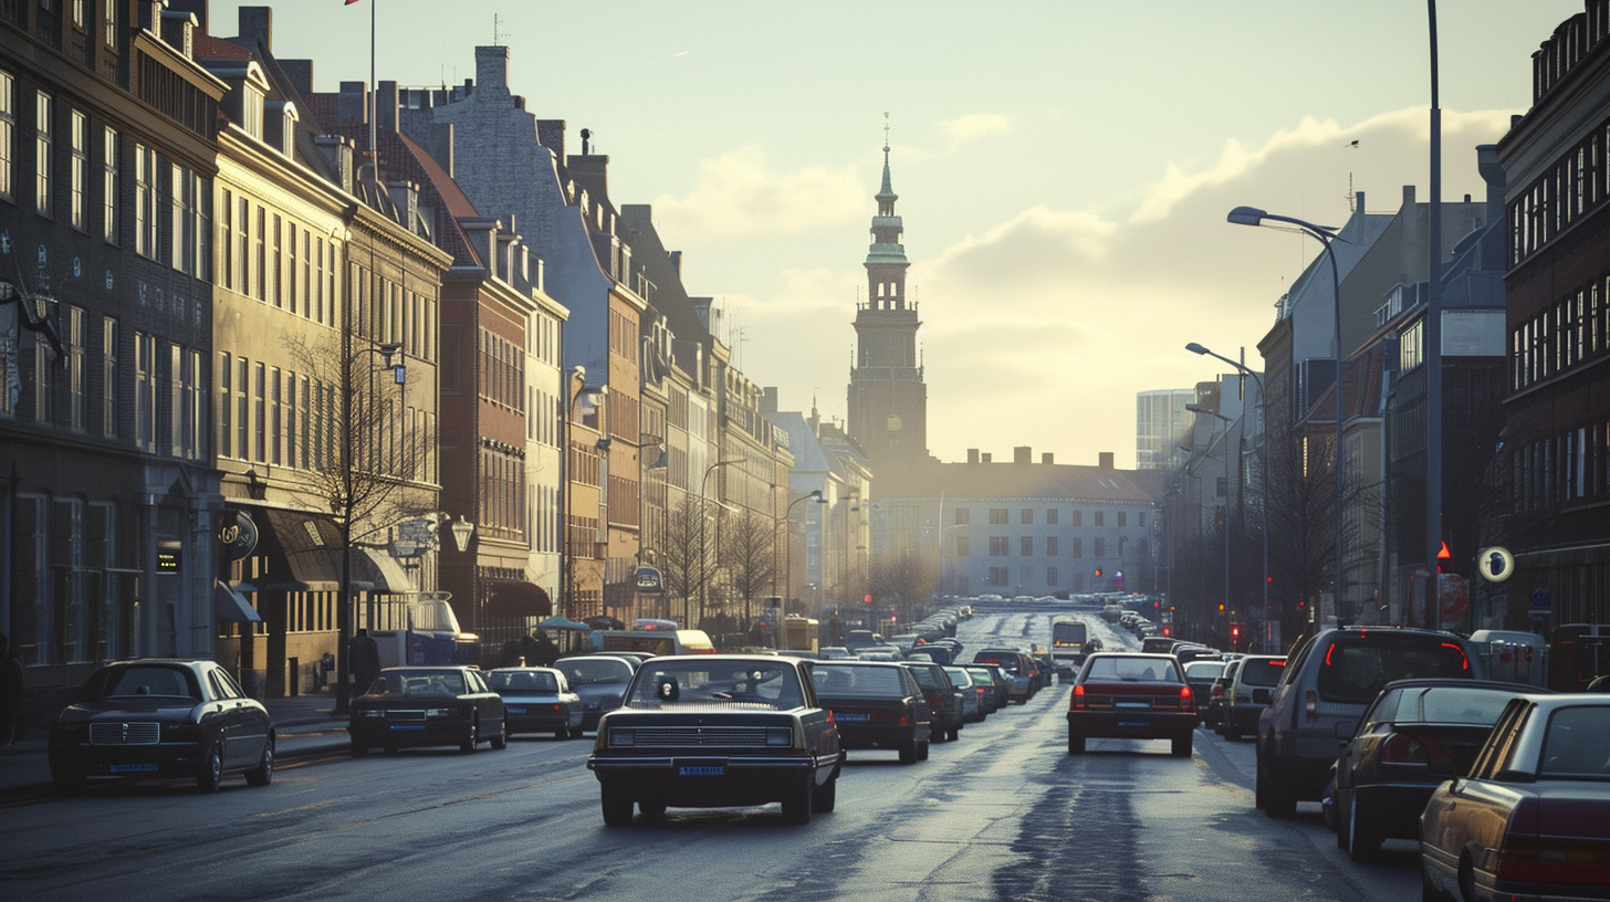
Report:
<svg viewBox="0 0 1610 902"><path fill-rule="evenodd" d="M663 710L686 705L720 705L789 710L805 704L799 672L781 664L753 660L657 660L638 670L625 707Z"/></svg>

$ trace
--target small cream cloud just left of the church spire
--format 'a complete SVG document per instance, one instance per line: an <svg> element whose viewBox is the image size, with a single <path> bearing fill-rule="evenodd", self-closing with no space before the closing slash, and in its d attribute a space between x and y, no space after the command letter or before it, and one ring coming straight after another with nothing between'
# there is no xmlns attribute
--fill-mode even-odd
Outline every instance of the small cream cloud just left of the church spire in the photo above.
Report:
<svg viewBox="0 0 1610 902"><path fill-rule="evenodd" d="M687 197L654 201L662 234L787 235L842 229L866 217L866 185L853 168L774 172L760 147L752 145L707 159L699 169L699 184Z"/></svg>

